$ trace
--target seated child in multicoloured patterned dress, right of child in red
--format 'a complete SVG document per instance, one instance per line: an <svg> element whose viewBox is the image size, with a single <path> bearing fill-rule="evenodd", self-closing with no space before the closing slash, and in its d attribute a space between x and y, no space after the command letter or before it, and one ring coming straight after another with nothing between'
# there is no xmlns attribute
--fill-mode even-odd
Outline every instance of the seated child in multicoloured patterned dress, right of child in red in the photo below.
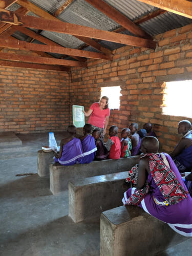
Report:
<svg viewBox="0 0 192 256"><path fill-rule="evenodd" d="M129 128L124 128L121 132L121 157L130 157L132 150L132 142L129 138L131 131Z"/></svg>

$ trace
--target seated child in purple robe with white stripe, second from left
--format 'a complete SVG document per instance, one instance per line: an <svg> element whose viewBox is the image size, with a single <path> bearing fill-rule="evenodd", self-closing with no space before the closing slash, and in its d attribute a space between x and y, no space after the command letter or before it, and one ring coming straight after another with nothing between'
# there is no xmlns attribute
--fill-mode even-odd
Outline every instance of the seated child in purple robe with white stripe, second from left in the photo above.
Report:
<svg viewBox="0 0 192 256"><path fill-rule="evenodd" d="M86 123L83 127L84 136L80 137L82 143L83 159L81 163L91 163L96 155L97 147L95 145L95 139L90 135L92 126L90 123Z"/></svg>

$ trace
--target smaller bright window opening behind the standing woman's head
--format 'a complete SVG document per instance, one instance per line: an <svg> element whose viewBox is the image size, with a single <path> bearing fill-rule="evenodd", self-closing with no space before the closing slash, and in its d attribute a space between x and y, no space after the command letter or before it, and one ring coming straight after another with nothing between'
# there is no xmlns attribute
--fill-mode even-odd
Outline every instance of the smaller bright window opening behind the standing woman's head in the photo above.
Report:
<svg viewBox="0 0 192 256"><path fill-rule="evenodd" d="M120 108L120 86L112 86L112 87L101 87L101 97L106 96L109 98L109 108L111 110Z"/></svg>

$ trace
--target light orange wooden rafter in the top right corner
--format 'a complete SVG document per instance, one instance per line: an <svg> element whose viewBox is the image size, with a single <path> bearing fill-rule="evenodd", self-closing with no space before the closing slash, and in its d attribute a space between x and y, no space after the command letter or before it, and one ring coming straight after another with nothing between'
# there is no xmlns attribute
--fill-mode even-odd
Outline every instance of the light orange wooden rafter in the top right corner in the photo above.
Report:
<svg viewBox="0 0 192 256"><path fill-rule="evenodd" d="M152 5L168 12L173 12L181 16L192 18L192 3L187 0L137 0L139 2Z"/></svg>

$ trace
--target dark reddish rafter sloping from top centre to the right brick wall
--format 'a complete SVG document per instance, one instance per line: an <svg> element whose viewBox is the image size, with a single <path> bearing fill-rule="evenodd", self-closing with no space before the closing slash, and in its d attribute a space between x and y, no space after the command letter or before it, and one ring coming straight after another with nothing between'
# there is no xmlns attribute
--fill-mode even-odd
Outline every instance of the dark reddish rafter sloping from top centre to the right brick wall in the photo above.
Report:
<svg viewBox="0 0 192 256"><path fill-rule="evenodd" d="M151 35L148 35L145 31L143 31L140 27L134 24L129 18L124 16L122 13L117 11L112 6L105 3L103 0L86 0L89 4L93 5L96 9L104 13L106 16L115 20L118 24L120 24L123 28L129 30L133 34L138 37L151 39Z"/></svg>

